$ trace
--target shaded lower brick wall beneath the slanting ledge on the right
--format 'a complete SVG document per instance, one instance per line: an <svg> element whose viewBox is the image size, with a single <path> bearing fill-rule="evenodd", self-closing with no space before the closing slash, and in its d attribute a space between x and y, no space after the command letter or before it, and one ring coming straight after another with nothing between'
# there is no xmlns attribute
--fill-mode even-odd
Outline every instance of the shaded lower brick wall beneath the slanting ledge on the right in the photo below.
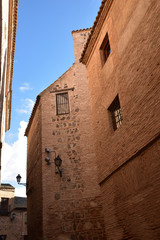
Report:
<svg viewBox="0 0 160 240"><path fill-rule="evenodd" d="M159 239L159 154L156 139L101 185L107 239Z"/></svg>

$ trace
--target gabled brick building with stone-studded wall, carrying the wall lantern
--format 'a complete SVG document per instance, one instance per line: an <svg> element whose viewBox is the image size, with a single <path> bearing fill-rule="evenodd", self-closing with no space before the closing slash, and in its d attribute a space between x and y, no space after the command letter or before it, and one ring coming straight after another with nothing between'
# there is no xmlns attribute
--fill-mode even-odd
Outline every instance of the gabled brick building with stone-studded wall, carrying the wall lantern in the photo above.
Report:
<svg viewBox="0 0 160 240"><path fill-rule="evenodd" d="M26 129L29 240L105 239L87 72L79 63L89 32L72 32L75 63L37 97Z"/></svg>

